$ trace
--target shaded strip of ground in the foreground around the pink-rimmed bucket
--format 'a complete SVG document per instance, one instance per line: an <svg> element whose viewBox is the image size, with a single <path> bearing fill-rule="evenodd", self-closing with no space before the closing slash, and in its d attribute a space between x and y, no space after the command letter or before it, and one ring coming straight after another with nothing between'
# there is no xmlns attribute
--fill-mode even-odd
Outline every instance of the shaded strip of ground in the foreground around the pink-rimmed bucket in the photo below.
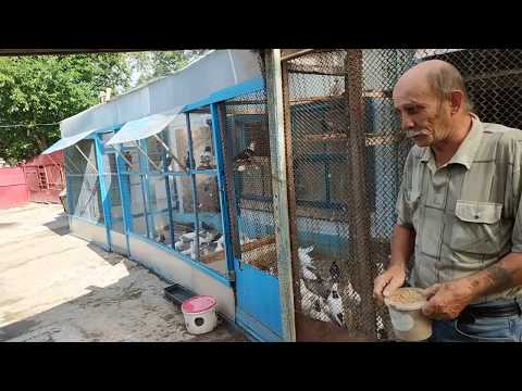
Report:
<svg viewBox="0 0 522 391"><path fill-rule="evenodd" d="M132 273L140 267L123 261ZM12 342L241 342L245 337L220 318L206 335L186 331L181 308L163 288L144 287L127 276L37 315L0 328L0 341ZM7 314L9 320L10 314ZM16 314L12 314L16 316Z"/></svg>

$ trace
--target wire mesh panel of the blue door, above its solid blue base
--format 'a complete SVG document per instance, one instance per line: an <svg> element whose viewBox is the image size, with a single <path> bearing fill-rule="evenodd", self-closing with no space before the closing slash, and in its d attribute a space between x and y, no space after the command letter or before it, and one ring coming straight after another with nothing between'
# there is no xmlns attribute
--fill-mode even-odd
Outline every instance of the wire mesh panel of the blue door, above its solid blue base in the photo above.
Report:
<svg viewBox="0 0 522 391"><path fill-rule="evenodd" d="M229 215L236 218L239 245L234 255L241 263L277 276L275 220L272 199L270 138L264 91L236 97L224 103L226 143L232 161Z"/></svg>

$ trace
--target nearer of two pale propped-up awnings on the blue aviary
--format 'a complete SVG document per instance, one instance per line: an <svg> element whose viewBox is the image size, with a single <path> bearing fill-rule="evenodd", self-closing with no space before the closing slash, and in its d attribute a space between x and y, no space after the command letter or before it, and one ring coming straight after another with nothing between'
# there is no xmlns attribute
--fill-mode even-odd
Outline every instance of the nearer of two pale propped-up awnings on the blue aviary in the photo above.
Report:
<svg viewBox="0 0 522 391"><path fill-rule="evenodd" d="M117 131L105 146L141 140L159 134L178 115L183 108L176 108L166 113L150 115L140 119L129 121Z"/></svg>

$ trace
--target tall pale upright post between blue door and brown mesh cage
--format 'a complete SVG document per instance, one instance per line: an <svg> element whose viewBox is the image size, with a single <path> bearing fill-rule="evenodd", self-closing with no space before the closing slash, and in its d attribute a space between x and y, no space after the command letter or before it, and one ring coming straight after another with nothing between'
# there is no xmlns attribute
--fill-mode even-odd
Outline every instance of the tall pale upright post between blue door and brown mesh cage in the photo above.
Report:
<svg viewBox="0 0 522 391"><path fill-rule="evenodd" d="M288 192L286 178L286 143L283 112L283 87L281 80L281 51L272 49L265 58L266 97L271 148L272 191L274 216L278 223L275 230L277 248L277 274L279 281L279 301L282 328L285 341L296 340L294 283L291 274L291 243L288 216Z"/></svg>

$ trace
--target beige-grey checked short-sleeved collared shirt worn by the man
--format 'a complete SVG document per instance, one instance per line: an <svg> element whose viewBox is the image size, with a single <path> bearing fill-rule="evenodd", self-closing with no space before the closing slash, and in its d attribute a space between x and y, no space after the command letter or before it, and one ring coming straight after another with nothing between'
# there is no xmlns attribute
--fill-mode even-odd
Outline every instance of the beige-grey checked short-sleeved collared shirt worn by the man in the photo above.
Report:
<svg viewBox="0 0 522 391"><path fill-rule="evenodd" d="M437 167L431 148L413 146L397 199L397 224L413 228L411 283L427 288L522 252L522 131L482 123ZM520 206L520 209L519 209ZM522 287L478 302L522 294Z"/></svg>

